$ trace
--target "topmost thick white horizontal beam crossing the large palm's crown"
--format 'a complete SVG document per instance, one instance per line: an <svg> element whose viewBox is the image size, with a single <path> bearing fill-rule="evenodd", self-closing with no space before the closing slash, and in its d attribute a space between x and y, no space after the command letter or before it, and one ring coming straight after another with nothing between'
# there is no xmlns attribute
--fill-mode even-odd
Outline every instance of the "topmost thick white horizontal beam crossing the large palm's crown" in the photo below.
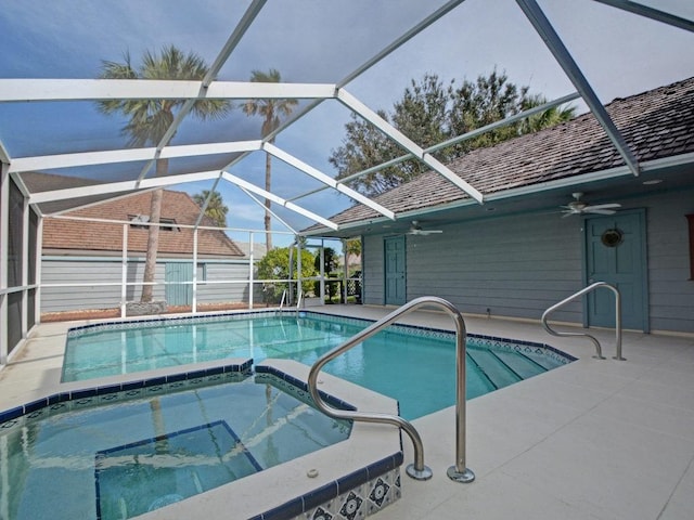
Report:
<svg viewBox="0 0 694 520"><path fill-rule="evenodd" d="M0 79L0 102L187 100L187 99L330 99L331 83L258 83L154 79Z"/></svg>

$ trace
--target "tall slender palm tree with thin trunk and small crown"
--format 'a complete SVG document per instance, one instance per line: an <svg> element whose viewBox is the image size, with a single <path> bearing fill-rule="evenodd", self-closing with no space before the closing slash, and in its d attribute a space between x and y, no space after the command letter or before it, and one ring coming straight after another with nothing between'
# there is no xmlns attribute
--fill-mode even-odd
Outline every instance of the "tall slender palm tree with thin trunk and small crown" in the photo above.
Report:
<svg viewBox="0 0 694 520"><path fill-rule="evenodd" d="M250 73L250 81L257 83L279 83L280 73L271 68L267 73L254 70ZM280 116L288 117L294 107L298 104L296 100L248 100L243 105L243 112L247 116L262 116L262 127L260 134L262 138L277 130L280 126ZM269 140L274 143L274 138ZM272 185L272 162L270 154L265 157L265 190L270 191ZM272 249L272 234L270 233L270 206L269 198L265 199L265 237L268 251Z"/></svg>

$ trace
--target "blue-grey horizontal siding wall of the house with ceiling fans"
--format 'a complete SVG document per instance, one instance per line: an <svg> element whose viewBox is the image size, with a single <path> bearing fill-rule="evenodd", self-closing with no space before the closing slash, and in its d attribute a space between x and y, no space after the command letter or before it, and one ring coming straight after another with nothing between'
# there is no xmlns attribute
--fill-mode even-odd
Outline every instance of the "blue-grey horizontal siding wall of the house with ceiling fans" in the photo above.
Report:
<svg viewBox="0 0 694 520"><path fill-rule="evenodd" d="M622 202L646 209L650 324L653 332L694 333L686 213L694 193ZM584 285L582 219L552 213L490 218L407 235L407 299L438 296L464 313L539 320ZM364 237L364 303L384 303L383 239ZM583 322L580 301L552 320Z"/></svg>

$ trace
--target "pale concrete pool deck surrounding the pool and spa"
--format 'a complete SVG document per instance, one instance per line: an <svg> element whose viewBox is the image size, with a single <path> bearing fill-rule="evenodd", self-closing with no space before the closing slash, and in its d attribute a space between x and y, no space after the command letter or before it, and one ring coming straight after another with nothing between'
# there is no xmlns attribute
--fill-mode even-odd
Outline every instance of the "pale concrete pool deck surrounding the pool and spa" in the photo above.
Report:
<svg viewBox="0 0 694 520"><path fill-rule="evenodd" d="M370 318L389 312L358 306L310 310ZM447 315L428 311L402 323L452 328ZM475 316L465 323L470 333L544 342L579 361L467 403L473 483L446 476L454 463L454 410L415 420L434 477L416 482L403 471L402 498L373 518L694 518L693 337L625 333L627 361L615 361L614 332L595 330L607 359L594 360L590 341L552 337L537 323ZM0 410L55 389L64 334L75 325L44 324L33 332L0 370ZM412 447L407 437L403 442L409 464Z"/></svg>

